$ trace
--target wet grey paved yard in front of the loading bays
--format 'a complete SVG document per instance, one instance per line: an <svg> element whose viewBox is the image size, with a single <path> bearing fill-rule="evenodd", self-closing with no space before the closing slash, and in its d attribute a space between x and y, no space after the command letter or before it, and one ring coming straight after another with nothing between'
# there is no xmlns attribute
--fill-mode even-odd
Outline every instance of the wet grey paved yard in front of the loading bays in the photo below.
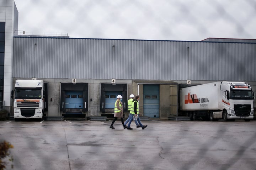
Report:
<svg viewBox="0 0 256 170"><path fill-rule="evenodd" d="M256 121L0 121L18 170L256 169ZM11 163L7 165L10 169Z"/></svg>

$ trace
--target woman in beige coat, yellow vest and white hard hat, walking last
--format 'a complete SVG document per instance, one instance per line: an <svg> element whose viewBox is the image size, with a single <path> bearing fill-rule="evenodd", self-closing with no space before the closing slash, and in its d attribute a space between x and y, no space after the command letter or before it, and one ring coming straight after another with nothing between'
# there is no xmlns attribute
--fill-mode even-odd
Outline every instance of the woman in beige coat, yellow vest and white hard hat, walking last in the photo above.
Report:
<svg viewBox="0 0 256 170"><path fill-rule="evenodd" d="M117 118L121 118L124 129L127 128L127 126L124 125L124 122L123 122L123 103L121 102L122 98L123 97L121 95L117 95L117 100L116 100L115 107L114 107L114 120L112 121L111 126L110 126L111 129L115 129L113 127L113 124L115 123Z"/></svg>

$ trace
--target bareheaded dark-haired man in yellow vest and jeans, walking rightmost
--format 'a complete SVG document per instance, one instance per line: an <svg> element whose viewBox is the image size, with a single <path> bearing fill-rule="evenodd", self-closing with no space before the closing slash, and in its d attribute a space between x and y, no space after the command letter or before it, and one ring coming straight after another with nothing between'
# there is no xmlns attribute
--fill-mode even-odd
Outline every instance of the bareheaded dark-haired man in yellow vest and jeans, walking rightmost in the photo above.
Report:
<svg viewBox="0 0 256 170"><path fill-rule="evenodd" d="M133 103L132 103L132 106L131 106L131 110L130 110L130 114L129 114L129 123L127 125L127 129L128 130L132 130L132 128L130 127L130 124L132 123L133 121L133 116L135 114L139 114L139 96L136 96L135 99L133 99ZM142 127L142 130L144 130L148 125L143 125L141 122L140 122L140 118L138 117L137 119L139 125Z"/></svg>

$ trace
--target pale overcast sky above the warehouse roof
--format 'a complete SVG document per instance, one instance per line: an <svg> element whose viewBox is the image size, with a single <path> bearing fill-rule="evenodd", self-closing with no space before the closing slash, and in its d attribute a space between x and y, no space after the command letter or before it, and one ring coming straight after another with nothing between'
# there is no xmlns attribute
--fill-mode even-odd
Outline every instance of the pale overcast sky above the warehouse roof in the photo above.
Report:
<svg viewBox="0 0 256 170"><path fill-rule="evenodd" d="M256 39L255 0L15 0L18 29L71 38Z"/></svg>

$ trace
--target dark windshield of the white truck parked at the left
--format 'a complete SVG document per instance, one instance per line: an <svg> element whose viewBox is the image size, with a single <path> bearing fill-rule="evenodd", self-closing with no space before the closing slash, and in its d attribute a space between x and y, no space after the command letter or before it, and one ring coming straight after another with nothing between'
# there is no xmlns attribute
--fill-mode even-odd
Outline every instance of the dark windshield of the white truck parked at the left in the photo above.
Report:
<svg viewBox="0 0 256 170"><path fill-rule="evenodd" d="M15 98L42 98L41 90L15 90Z"/></svg>

